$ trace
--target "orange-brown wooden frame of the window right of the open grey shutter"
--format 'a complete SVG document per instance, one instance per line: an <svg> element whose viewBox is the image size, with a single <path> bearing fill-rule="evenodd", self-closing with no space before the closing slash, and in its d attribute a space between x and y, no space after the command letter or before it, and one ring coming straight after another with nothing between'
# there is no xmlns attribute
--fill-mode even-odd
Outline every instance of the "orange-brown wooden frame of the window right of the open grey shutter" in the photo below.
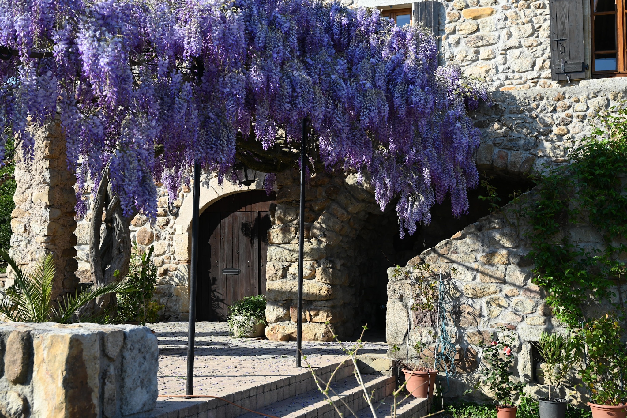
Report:
<svg viewBox="0 0 627 418"><path fill-rule="evenodd" d="M591 70L592 78L610 78L627 76L627 51L626 34L627 26L627 0L616 0L616 11L595 12L594 0L590 0L590 38L591 38ZM595 56L597 53L613 53L612 51L594 50L594 16L614 14L616 16L616 70L596 71L594 68Z"/></svg>

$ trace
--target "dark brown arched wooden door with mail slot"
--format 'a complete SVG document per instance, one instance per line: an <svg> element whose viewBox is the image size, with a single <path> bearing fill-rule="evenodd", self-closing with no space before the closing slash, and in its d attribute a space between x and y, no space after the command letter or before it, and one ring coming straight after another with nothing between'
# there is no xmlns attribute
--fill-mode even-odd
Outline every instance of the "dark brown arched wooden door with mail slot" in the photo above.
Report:
<svg viewBox="0 0 627 418"><path fill-rule="evenodd" d="M270 204L274 194L232 194L200 216L198 321L226 321L228 306L266 291Z"/></svg>

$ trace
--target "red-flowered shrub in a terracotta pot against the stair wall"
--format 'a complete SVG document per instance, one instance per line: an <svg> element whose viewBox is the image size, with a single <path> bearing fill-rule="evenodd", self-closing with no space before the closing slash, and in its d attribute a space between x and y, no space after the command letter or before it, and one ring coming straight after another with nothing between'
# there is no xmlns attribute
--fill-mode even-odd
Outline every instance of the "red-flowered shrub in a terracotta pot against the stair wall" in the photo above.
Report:
<svg viewBox="0 0 627 418"><path fill-rule="evenodd" d="M498 337L498 333L501 337ZM498 418L515 418L516 407L512 398L525 387L523 382L512 381L512 365L514 365L514 351L512 344L515 337L512 332L500 328L494 334L495 340L489 344L481 343L483 348L483 362L485 369L483 385L488 387L497 401Z"/></svg>

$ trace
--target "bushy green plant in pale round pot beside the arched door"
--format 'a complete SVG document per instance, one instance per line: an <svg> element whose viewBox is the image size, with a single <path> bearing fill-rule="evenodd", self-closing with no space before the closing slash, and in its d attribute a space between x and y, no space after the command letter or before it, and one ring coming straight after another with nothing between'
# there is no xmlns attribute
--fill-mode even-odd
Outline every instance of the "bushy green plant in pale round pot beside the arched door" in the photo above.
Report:
<svg viewBox="0 0 627 418"><path fill-rule="evenodd" d="M261 337L266 325L266 298L246 296L229 306L229 328L236 337Z"/></svg>

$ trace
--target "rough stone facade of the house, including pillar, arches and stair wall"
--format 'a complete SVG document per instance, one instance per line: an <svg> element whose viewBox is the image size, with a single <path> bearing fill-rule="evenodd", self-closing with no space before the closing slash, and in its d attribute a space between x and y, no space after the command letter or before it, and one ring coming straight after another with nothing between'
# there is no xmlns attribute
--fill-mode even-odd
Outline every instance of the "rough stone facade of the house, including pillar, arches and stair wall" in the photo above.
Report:
<svg viewBox="0 0 627 418"><path fill-rule="evenodd" d="M403 0L347 1L382 11L409 9L411 14L416 9L416 4L401 3ZM453 0L441 1L436 7L441 64L460 65L466 74L486 80L492 91L492 105L484 103L472 117L483 137L475 154L478 169L495 180L514 184L534 170L567 164L568 150L589 135L599 113L627 98L625 78L593 78L598 74L593 73L592 65L577 73L580 78L557 80L561 77L552 66L555 36L548 0ZM590 4L582 2L580 52L584 64L593 60L590 14ZM12 254L21 264L36 261L46 249L58 259L61 267L55 295L73 289L78 278L90 280L90 212L77 219L76 226L71 191L75 179L62 167L65 160L59 144L63 140L54 125L36 133L35 164L27 167L20 162L16 169L18 191L12 221ZM257 173L253 184L242 187L228 181L220 185L215 175L204 174L201 213L226 196L263 189L264 179L265 174ZM273 340L295 337L298 182L296 171L278 174L277 198L271 207L266 336ZM452 390L446 395L461 395L477 380L477 344L499 325L519 337L518 375L533 380L531 342L537 341L542 330L564 332L564 328L545 307L542 290L530 283L532 261L525 258L529 249L520 226L513 227L502 214L482 217L487 212L478 211L473 212L474 219L463 218L466 224L453 231L443 226L432 229L431 241L440 237L441 242L429 241L429 230L424 231L419 241L428 243L428 249L418 241L400 249L395 248L398 224L393 208L382 212L371 187L359 184L356 175L315 174L306 190L302 313L306 339L329 340L326 321L340 335L350 336L363 323L383 323L385 316L389 355L398 360L407 360L409 355L411 360L416 357L411 351L415 324L408 321L411 286L406 277L387 268L400 264L411 276L415 273L412 266L423 261L446 274L453 266L457 273L450 278L449 293L457 310L451 311L447 325L458 347L459 374L450 379ZM140 248L154 245L153 261L159 274L155 298L164 305L164 320L187 320L189 315L191 194L190 188L182 185L177 201L169 207L166 191L159 187L155 221L138 215L130 227ZM438 216L443 219L441 224L450 227L460 222L450 216L446 204L434 208L434 219ZM454 234L458 230L460 233ZM581 226L572 233L591 245L598 243ZM409 259L413 261L408 264ZM526 390L537 388L531 385Z"/></svg>

